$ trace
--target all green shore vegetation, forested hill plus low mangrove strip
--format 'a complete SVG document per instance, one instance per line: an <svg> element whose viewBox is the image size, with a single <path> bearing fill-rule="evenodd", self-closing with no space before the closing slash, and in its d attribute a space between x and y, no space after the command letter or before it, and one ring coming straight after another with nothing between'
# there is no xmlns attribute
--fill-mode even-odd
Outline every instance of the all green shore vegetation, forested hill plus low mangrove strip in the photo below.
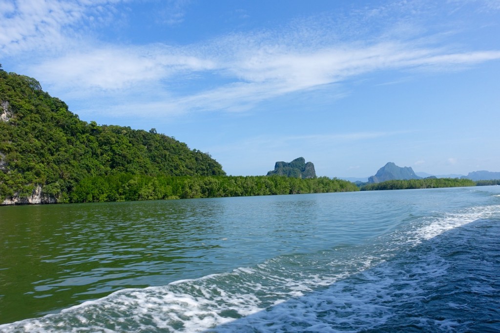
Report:
<svg viewBox="0 0 500 333"><path fill-rule="evenodd" d="M312 165L312 164L311 164ZM227 176L174 137L87 123L34 78L0 65L0 205L216 198L494 185L419 179L356 185L328 177Z"/></svg>

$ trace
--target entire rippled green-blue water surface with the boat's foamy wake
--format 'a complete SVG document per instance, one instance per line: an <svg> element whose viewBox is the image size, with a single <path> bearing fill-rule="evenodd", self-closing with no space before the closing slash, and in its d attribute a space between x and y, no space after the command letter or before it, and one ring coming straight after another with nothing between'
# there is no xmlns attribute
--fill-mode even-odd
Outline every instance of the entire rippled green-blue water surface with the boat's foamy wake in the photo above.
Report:
<svg viewBox="0 0 500 333"><path fill-rule="evenodd" d="M0 332L500 332L500 186L0 208Z"/></svg>

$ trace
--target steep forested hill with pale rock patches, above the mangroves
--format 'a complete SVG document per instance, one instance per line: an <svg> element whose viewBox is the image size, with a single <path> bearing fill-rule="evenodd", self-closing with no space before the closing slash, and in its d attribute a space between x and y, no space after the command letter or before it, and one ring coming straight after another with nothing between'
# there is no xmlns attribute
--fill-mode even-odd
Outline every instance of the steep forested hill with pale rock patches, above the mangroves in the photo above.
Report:
<svg viewBox="0 0 500 333"><path fill-rule="evenodd" d="M65 202L80 180L117 173L225 175L210 155L154 129L82 121L35 79L0 67L0 204L35 192Z"/></svg>

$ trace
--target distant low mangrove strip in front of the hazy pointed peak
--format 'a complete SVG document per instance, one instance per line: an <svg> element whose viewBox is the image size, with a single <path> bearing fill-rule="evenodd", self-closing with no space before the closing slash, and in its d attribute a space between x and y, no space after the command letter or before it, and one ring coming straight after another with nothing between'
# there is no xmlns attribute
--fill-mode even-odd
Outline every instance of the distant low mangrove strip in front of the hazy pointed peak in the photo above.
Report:
<svg viewBox="0 0 500 333"><path fill-rule="evenodd" d="M475 186L476 183L470 179L458 178L425 178L408 180L387 180L381 183L366 184L360 188L361 191L372 190L404 190L425 189L438 187L462 187Z"/></svg>

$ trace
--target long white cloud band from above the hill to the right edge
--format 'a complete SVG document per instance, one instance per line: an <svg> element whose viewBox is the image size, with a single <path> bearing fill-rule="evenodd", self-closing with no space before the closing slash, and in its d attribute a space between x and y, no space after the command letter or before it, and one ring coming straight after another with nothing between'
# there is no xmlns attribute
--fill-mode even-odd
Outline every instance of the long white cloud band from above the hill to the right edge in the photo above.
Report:
<svg viewBox="0 0 500 333"><path fill-rule="evenodd" d="M188 95L172 92L164 103L186 111L240 111L263 100L342 82L375 70L470 64L500 58L497 51L436 54L439 51L410 49L409 45L397 43L339 45L307 54L245 49L245 56L224 61L214 53L190 54L185 49L168 47L105 48L49 60L37 66L36 72L49 79L50 73L54 73L52 84L77 86L80 91L139 88L139 94L143 93L140 89L149 93L164 90L161 82L173 78L195 82L197 78L190 76L195 72L221 75L233 82L190 91Z"/></svg>

